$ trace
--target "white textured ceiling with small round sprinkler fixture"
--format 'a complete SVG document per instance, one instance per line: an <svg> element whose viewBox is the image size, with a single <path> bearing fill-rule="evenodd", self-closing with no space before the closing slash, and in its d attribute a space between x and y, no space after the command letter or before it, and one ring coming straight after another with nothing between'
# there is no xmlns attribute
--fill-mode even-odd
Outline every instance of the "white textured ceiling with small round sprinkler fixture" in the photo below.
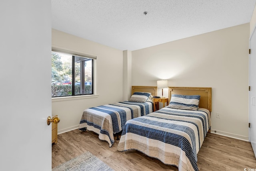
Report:
<svg viewBox="0 0 256 171"><path fill-rule="evenodd" d="M254 6L255 0L52 0L52 28L133 51L248 23Z"/></svg>

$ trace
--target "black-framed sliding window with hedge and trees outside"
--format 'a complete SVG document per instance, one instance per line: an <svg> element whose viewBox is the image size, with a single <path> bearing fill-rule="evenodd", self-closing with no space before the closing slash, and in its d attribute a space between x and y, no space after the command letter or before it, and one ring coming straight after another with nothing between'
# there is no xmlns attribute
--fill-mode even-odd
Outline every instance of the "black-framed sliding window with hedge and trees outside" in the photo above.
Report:
<svg viewBox="0 0 256 171"><path fill-rule="evenodd" d="M93 94L96 57L52 50L52 97Z"/></svg>

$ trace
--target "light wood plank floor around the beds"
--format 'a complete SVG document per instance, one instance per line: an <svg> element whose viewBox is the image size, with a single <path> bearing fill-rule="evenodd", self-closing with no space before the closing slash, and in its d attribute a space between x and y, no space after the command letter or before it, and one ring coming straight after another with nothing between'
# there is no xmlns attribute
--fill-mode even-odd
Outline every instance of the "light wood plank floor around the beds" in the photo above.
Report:
<svg viewBox="0 0 256 171"><path fill-rule="evenodd" d="M52 168L90 151L115 171L178 171L178 168L136 150L119 152L117 145L118 140L115 140L109 147L107 142L90 131L73 130L60 134L58 143L52 145ZM256 159L249 142L217 134L207 134L197 156L200 171L256 169Z"/></svg>

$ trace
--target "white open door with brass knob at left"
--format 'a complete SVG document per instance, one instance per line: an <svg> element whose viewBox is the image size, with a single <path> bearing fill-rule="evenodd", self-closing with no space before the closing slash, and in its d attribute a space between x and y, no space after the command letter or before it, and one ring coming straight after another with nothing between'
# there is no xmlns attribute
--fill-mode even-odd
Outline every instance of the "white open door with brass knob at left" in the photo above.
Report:
<svg viewBox="0 0 256 171"><path fill-rule="evenodd" d="M51 0L1 0L0 25L0 170L51 171Z"/></svg>

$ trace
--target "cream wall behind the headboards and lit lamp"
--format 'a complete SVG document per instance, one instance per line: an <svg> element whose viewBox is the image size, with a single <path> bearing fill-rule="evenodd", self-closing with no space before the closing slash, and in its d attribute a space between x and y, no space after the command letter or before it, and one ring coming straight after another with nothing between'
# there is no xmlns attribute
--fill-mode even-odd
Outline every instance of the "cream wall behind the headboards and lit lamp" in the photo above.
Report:
<svg viewBox="0 0 256 171"><path fill-rule="evenodd" d="M212 132L248 140L249 34L243 24L132 51L132 85L212 87Z"/></svg>

